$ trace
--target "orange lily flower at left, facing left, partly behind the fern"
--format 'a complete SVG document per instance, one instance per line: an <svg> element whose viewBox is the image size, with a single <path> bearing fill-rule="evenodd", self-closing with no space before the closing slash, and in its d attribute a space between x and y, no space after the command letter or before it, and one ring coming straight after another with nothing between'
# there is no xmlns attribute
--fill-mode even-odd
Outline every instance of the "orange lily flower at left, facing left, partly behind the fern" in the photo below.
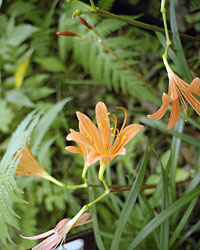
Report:
<svg viewBox="0 0 200 250"><path fill-rule="evenodd" d="M18 176L33 176L49 179L50 175L40 166L38 161L33 156L27 143L27 137L25 145L26 149L20 148L16 152L16 154L19 153L19 156L21 155L21 158L15 174Z"/></svg>

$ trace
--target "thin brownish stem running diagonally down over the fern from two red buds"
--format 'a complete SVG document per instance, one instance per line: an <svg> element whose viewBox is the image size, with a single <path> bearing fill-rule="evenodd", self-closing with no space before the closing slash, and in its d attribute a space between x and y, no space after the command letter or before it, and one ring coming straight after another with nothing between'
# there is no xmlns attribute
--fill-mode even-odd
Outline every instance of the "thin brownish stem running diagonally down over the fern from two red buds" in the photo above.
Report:
<svg viewBox="0 0 200 250"><path fill-rule="evenodd" d="M151 85L144 80L144 78L138 74L132 67L130 67L121 57L119 57L112 49L110 49L104 42L99 41L99 43L109 52L111 53L121 64L124 65L126 69L128 69L136 78L138 78L146 88L148 88L152 93L154 93L155 96L160 98L160 94L157 93L157 91L151 87Z"/></svg>

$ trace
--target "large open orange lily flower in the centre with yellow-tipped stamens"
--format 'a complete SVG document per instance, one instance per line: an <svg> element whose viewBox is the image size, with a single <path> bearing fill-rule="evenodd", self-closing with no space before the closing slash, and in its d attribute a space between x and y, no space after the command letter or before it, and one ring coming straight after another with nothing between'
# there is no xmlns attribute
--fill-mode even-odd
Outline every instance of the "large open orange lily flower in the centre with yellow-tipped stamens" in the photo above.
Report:
<svg viewBox="0 0 200 250"><path fill-rule="evenodd" d="M97 127L88 116L77 112L81 131L71 131L67 136L67 140L75 141L78 145L84 145L88 148L89 151L86 156L88 166L100 160L101 164L104 164L106 167L117 155L124 155L126 153L124 146L143 128L143 125L136 124L125 127L127 119L126 109L122 107L118 107L118 109L122 109L125 113L124 122L120 130L117 129L116 116L112 114L113 119L109 119L110 113L108 113L103 102L98 102L96 105ZM113 128L110 127L110 121L114 123ZM112 134L111 131L113 131ZM72 152L72 150L70 151ZM77 149L74 150L74 153L77 152Z"/></svg>

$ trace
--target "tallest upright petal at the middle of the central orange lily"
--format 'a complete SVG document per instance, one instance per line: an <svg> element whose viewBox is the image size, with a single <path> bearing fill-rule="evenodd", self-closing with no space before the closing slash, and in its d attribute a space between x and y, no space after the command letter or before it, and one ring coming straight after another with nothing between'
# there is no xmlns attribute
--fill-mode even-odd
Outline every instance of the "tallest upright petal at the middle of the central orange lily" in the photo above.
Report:
<svg viewBox="0 0 200 250"><path fill-rule="evenodd" d="M95 110L98 130L102 141L102 148L104 152L107 152L109 150L111 140L108 110L103 102L98 102Z"/></svg>

